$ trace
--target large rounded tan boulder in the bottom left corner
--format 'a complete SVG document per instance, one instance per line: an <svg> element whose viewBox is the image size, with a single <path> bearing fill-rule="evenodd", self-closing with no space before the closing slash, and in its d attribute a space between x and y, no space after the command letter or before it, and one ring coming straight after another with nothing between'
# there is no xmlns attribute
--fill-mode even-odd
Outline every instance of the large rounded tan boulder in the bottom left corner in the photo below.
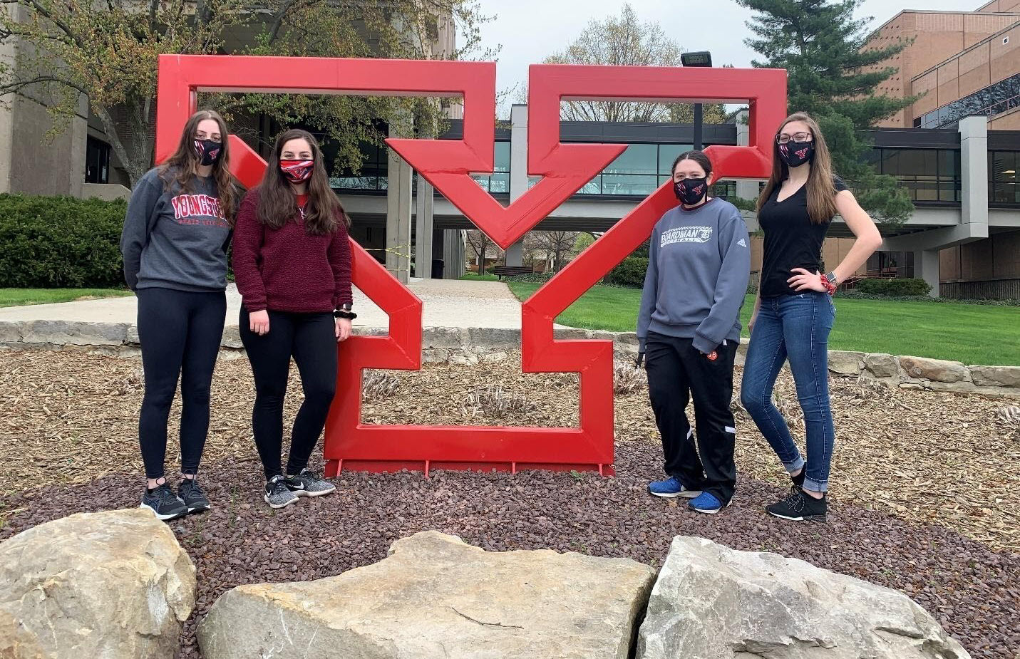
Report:
<svg viewBox="0 0 1020 659"><path fill-rule="evenodd" d="M172 659L195 566L149 509L79 513L0 544L0 657Z"/></svg>

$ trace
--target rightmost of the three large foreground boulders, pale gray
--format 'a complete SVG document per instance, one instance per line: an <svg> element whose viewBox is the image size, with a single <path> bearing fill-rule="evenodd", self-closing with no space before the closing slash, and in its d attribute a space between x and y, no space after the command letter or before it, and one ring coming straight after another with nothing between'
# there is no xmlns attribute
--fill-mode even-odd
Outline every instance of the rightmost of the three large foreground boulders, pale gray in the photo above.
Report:
<svg viewBox="0 0 1020 659"><path fill-rule="evenodd" d="M777 554L673 539L636 659L965 659L899 591Z"/></svg>

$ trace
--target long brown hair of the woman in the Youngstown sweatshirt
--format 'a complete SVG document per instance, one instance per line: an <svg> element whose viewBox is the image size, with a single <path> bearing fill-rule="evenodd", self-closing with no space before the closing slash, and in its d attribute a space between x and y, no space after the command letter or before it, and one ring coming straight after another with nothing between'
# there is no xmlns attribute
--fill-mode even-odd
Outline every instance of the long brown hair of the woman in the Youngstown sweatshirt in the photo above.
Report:
<svg viewBox="0 0 1020 659"><path fill-rule="evenodd" d="M181 133L181 143L166 162L159 166L159 178L163 180L163 188L176 185L185 192L194 191L197 167L201 164L198 151L195 150L195 134L198 124L206 119L212 119L219 124L219 136L223 142L219 158L212 165L212 179L216 182L216 194L219 205L223 209L223 217L230 226L234 226L234 214L237 210L239 186L237 179L231 173L231 141L226 131L226 122L218 112L199 110L192 114Z"/></svg>

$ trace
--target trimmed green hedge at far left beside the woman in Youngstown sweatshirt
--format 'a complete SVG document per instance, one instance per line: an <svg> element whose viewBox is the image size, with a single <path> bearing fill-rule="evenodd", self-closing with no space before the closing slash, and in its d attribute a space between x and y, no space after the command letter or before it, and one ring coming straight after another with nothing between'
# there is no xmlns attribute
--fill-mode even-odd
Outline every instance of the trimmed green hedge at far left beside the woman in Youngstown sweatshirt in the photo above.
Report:
<svg viewBox="0 0 1020 659"><path fill-rule="evenodd" d="M128 202L0 194L0 288L123 286Z"/></svg>

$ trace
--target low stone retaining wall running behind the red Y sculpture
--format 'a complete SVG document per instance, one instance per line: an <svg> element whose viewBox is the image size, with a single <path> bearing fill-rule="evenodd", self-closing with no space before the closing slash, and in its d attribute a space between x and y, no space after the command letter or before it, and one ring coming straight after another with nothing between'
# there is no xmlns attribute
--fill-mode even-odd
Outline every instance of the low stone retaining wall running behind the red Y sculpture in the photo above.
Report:
<svg viewBox="0 0 1020 659"><path fill-rule="evenodd" d="M356 334L379 336L382 327L356 327ZM620 356L638 351L632 332L559 328L561 340L612 341ZM63 320L0 321L0 346L20 350L80 350L92 354L138 356L138 330L131 323L70 322ZM236 325L223 331L224 357L243 354ZM487 327L425 327L422 333L425 362L477 364L505 359L520 349L520 331ZM736 363L743 365L747 340L741 341ZM1020 366L966 366L958 361L926 357L897 357L845 350L829 351L829 371L864 383L881 383L901 389L932 390L1020 398Z"/></svg>

